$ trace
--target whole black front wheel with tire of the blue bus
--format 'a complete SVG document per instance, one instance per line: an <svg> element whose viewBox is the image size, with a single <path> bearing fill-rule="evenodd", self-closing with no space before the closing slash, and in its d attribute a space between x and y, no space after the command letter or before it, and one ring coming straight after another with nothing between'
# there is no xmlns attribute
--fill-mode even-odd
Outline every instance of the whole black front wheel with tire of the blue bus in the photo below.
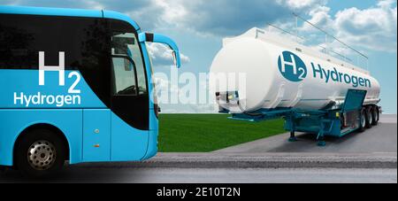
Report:
<svg viewBox="0 0 398 201"><path fill-rule="evenodd" d="M48 129L34 129L16 145L15 165L27 177L47 177L62 169L65 153L65 144L57 134Z"/></svg>

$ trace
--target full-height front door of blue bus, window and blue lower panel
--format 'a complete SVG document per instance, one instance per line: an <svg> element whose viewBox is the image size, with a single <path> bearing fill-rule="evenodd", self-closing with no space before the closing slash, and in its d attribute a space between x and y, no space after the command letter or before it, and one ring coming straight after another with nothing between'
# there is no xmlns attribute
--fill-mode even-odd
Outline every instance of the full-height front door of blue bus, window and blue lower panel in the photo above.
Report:
<svg viewBox="0 0 398 201"><path fill-rule="evenodd" d="M143 158L149 137L149 93L142 50L134 33L111 38L111 160Z"/></svg>

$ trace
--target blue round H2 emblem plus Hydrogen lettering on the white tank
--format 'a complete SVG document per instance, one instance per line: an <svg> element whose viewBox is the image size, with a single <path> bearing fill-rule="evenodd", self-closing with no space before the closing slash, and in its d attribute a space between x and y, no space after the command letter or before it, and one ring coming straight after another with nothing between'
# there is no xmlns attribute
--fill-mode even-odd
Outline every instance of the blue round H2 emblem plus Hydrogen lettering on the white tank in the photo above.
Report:
<svg viewBox="0 0 398 201"><path fill-rule="evenodd" d="M283 51L279 56L278 66L279 72L288 81L303 81L307 77L307 66L305 66L302 58L299 58L293 52ZM325 80L325 83L329 83L329 81L344 81L354 88L371 88L371 80L369 79L357 77L356 75L349 75L348 73L341 73L335 67L333 67L333 70L325 69L320 64L315 65L313 62L311 62L311 66L313 77Z"/></svg>

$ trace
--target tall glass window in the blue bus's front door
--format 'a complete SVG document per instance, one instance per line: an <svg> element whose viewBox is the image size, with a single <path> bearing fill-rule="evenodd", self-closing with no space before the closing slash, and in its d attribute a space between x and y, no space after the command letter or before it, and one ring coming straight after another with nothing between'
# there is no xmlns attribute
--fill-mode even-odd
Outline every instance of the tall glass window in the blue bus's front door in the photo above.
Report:
<svg viewBox="0 0 398 201"><path fill-rule="evenodd" d="M115 94L126 95L128 91L138 95L148 94L142 52L136 36L133 33L113 33L111 41L113 66L124 66L113 69Z"/></svg>

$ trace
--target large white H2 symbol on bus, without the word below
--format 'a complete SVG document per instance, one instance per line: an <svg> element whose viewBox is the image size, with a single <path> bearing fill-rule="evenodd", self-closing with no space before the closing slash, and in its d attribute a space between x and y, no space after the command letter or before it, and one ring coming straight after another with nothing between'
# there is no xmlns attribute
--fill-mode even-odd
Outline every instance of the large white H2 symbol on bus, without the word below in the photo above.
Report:
<svg viewBox="0 0 398 201"><path fill-rule="evenodd" d="M65 52L60 51L58 57L58 66L44 66L44 51L39 52L39 86L44 86L44 73L46 71L57 71L59 75L59 86L65 86ZM76 80L68 89L68 93L80 94L80 89L75 89L81 80L80 73L71 72L68 74L69 79L73 78L73 76L76 77Z"/></svg>

